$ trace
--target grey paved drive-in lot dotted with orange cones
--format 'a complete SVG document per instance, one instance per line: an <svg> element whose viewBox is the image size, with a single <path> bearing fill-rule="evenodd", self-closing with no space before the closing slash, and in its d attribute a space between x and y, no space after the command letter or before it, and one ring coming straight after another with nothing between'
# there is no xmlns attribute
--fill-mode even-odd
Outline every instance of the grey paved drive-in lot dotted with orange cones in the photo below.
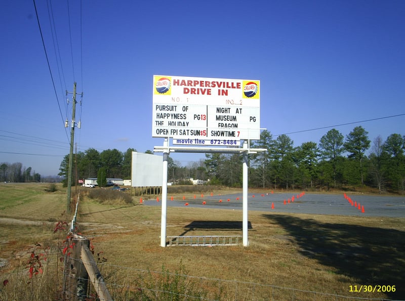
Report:
<svg viewBox="0 0 405 301"><path fill-rule="evenodd" d="M300 197L300 193L248 193L248 209L258 211L273 211L273 212L289 212L289 213L308 213L308 214L334 214L344 216L369 216L369 217L390 217L404 218L405 217L405 197L404 196L379 196L379 195L364 195L364 194L347 194L356 207L344 197L344 194L313 194L305 193ZM292 197L294 196L294 202ZM196 198L178 200L170 200L168 196L169 206L185 206L189 207L208 207L208 208L223 208L223 209L242 209L242 192L240 194L228 195L201 195ZM288 203L290 199L290 203ZM222 200L220 202L220 200ZM228 201L229 200L229 201ZM286 200L286 205L284 204ZM203 204L205 202L205 204ZM274 209L272 209L274 203ZM364 207L364 212L358 209ZM161 201L149 200L144 202L145 205L160 206Z"/></svg>

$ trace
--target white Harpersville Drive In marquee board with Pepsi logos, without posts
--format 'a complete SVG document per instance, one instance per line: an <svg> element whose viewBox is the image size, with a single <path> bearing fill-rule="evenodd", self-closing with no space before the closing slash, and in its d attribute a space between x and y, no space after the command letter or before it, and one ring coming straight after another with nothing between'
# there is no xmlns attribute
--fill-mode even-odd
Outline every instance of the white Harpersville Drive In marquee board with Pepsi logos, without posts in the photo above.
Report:
<svg viewBox="0 0 405 301"><path fill-rule="evenodd" d="M154 75L152 137L195 145L259 140L260 81Z"/></svg>

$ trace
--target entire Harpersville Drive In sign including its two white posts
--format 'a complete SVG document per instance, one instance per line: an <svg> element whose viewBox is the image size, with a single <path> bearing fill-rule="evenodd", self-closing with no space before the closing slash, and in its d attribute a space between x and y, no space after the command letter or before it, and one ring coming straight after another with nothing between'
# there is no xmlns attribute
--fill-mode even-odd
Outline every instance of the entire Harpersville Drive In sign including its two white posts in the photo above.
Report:
<svg viewBox="0 0 405 301"><path fill-rule="evenodd" d="M165 138L160 245L166 246L167 160L170 152L240 153L243 165L243 244L248 246L248 154L260 139L260 81L153 76L152 137ZM173 144L169 146L170 138ZM244 140L243 148L240 141Z"/></svg>

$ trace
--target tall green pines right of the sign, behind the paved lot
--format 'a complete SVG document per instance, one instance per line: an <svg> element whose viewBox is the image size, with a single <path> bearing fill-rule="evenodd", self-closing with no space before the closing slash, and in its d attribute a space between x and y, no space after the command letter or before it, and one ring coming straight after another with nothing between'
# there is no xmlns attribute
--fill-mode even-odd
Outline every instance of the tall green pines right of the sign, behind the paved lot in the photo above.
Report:
<svg viewBox="0 0 405 301"><path fill-rule="evenodd" d="M378 136L373 143L362 126L344 137L333 128L319 143L293 147L287 135L264 131L255 146L268 151L252 157L251 185L274 188L340 188L366 185L400 192L405 183L405 136ZM368 153L369 151L369 153Z"/></svg>

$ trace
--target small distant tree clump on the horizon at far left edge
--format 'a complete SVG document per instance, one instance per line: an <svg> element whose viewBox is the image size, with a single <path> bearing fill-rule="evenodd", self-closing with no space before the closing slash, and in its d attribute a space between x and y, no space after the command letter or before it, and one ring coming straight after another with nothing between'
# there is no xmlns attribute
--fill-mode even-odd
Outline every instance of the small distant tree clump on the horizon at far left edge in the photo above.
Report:
<svg viewBox="0 0 405 301"><path fill-rule="evenodd" d="M1 163L0 181L12 183L41 182L41 175L35 173L32 167L23 167L20 162Z"/></svg>

